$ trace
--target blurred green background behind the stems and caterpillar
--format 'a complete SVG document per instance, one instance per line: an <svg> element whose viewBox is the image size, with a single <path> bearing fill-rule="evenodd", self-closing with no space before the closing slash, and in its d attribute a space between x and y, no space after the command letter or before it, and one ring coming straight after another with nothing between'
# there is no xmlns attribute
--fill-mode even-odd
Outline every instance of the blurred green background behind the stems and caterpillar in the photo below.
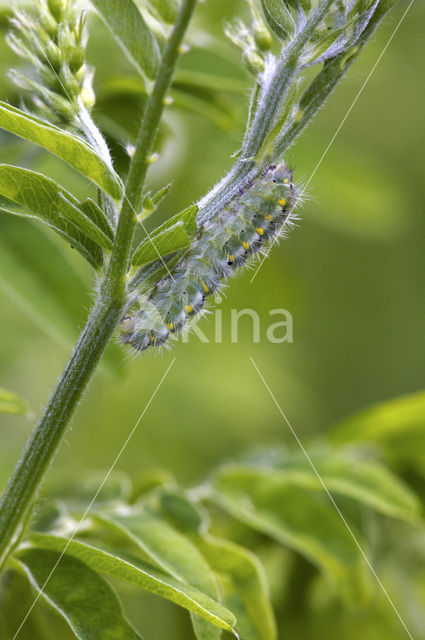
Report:
<svg viewBox="0 0 425 640"><path fill-rule="evenodd" d="M296 180L303 183L311 176L407 4L397 5L343 86L288 154ZM232 164L250 78L239 64L238 51L226 42L222 25L245 11L245 3L235 0L209 0L199 10L193 46L181 67L224 75L235 90L214 94L214 104L207 110L201 107L205 113L195 112L196 101L192 111L182 110L176 91L166 115L162 157L151 174L152 188L174 184L151 225L196 201ZM4 44L6 14L2 16L0 89L3 99L19 103L6 78L17 61ZM251 273L245 272L227 289L220 304L222 344L214 343L214 324L205 319L200 328L210 337L209 344L193 335L171 352L149 352L136 359L115 347L50 469L46 493L49 485L79 482L85 472L109 468L174 357L117 468L135 476L148 467L163 467L187 486L249 447L293 444L250 357L303 441L372 403L423 388L424 27L425 6L416 2L311 180L299 227L273 250L252 284ZM100 96L95 115L107 125L108 109L127 110L123 117L129 130L134 129L137 110L131 111L130 103L119 95L102 98L106 80L124 73L126 63L98 23L89 50ZM243 86L246 89L239 89ZM41 170L77 195L88 193L83 179L56 158L3 133L0 143L1 162ZM113 150L117 156L122 152L118 145ZM1 219L0 244L0 385L27 398L38 415L83 326L94 283L82 259L36 224ZM47 287L41 285L46 279ZM231 343L231 309L243 308L261 318L258 344L252 341L247 318L240 321L238 343ZM269 311L275 308L292 314L293 344L267 342ZM32 425L21 417L2 416L1 421L4 484ZM401 554L394 557L391 570L404 572L408 580L412 568ZM131 597L130 614L140 619L147 637L190 637L180 611L148 596L142 604L140 595ZM399 604L403 615L417 624L412 620L418 613L407 598ZM144 611L149 616L143 616ZM304 624L301 617L293 621L293 637L354 638L361 632L368 639L407 637L383 599L379 606L361 611L334 610L331 627L320 611L312 616L314 624ZM283 621L280 624L282 638L289 637ZM423 626L417 637L425 637Z"/></svg>

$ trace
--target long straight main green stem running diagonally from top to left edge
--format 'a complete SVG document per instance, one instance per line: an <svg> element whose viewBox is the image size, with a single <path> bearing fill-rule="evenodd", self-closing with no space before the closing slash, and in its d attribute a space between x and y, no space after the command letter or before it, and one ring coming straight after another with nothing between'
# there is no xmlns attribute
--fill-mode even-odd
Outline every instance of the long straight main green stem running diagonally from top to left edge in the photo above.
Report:
<svg viewBox="0 0 425 640"><path fill-rule="evenodd" d="M0 503L0 567L19 536L28 509L37 496L74 411L121 318L126 301L127 262L137 222L134 211L140 208L149 157L164 109L164 98L196 3L197 0L184 0L163 54L153 92L142 118L109 266L98 299L3 494Z"/></svg>

